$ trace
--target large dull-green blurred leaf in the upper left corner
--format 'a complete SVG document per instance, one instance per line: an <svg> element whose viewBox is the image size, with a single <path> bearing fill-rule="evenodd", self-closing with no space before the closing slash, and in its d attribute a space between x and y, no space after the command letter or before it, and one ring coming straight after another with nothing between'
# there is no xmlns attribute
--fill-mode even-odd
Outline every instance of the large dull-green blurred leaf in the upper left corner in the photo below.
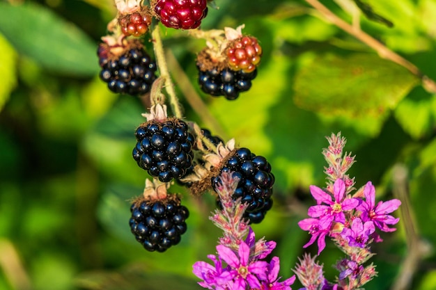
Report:
<svg viewBox="0 0 436 290"><path fill-rule="evenodd" d="M0 32L17 51L49 70L77 76L98 72L97 45L77 26L42 6L1 2Z"/></svg>

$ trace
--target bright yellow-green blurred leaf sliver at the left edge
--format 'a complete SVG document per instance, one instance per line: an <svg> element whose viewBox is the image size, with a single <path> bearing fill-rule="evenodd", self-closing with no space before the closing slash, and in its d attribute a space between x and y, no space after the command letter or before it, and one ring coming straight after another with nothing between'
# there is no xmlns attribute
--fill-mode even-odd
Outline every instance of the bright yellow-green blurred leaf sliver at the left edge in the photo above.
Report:
<svg viewBox="0 0 436 290"><path fill-rule="evenodd" d="M9 99L10 92L17 84L16 61L17 55L13 47L10 46L0 33L0 75L3 76L0 86L0 111Z"/></svg>

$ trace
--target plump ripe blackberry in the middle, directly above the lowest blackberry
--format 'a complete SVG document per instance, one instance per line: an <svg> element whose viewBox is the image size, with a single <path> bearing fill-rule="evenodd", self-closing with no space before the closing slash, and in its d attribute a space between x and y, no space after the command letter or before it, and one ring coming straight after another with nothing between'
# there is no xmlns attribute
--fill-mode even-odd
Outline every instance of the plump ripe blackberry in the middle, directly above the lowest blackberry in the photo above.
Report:
<svg viewBox="0 0 436 290"><path fill-rule="evenodd" d="M180 119L150 120L135 131L137 145L132 156L139 167L161 182L179 178L191 167L194 136Z"/></svg>

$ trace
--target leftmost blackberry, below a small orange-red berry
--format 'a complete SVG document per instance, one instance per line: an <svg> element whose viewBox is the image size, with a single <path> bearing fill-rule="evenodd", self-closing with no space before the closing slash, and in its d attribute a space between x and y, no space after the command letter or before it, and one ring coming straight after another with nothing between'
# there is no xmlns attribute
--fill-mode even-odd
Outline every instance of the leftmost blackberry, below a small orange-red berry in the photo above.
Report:
<svg viewBox="0 0 436 290"><path fill-rule="evenodd" d="M98 51L100 79L107 83L109 90L129 95L150 92L157 67L145 50L132 48L116 59L109 59L102 50Z"/></svg>

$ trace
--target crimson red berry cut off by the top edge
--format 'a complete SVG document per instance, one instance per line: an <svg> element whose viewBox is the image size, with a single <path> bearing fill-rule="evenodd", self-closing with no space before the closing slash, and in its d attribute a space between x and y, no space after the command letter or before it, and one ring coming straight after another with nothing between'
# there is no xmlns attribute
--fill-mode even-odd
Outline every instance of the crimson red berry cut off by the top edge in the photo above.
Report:
<svg viewBox="0 0 436 290"><path fill-rule="evenodd" d="M160 22L173 29L196 29L208 14L206 0L157 0L152 3Z"/></svg>

